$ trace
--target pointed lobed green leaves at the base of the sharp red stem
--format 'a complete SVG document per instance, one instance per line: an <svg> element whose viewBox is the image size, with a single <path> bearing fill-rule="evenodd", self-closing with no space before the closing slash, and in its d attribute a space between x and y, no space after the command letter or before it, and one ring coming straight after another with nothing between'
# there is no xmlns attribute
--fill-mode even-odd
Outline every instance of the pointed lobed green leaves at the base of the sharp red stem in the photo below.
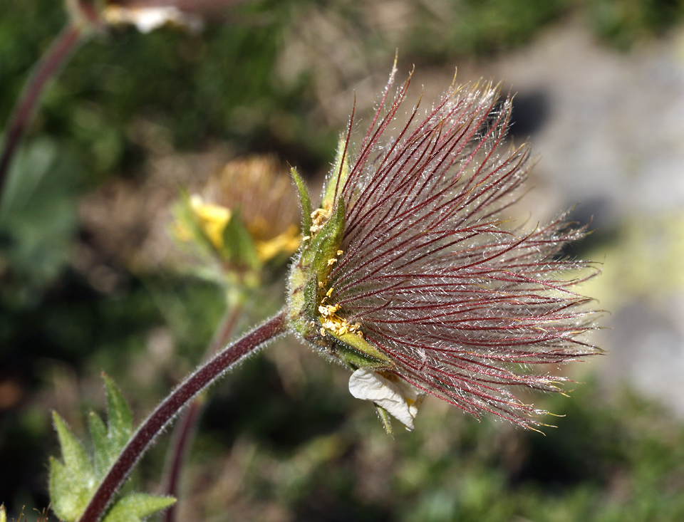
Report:
<svg viewBox="0 0 684 522"><path fill-rule="evenodd" d="M75 522L85 511L133 432L133 417L120 390L103 375L107 390L108 423L90 412L88 425L93 439L90 456L73 436L66 422L53 412L53 422L62 450L62 460L50 459L50 501L55 514ZM109 508L103 522L141 522L142 518L167 508L175 498L147 494L126 494Z"/></svg>

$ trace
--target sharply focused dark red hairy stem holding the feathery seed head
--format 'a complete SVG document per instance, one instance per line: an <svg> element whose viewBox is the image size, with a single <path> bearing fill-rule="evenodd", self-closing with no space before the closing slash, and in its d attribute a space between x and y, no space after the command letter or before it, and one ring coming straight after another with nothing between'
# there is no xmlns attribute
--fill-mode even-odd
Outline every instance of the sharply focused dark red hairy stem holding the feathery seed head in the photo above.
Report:
<svg viewBox="0 0 684 522"><path fill-rule="evenodd" d="M88 503L86 511L83 511L79 522L97 522L100 520L117 489L128 477L138 459L150 447L162 429L180 412L185 404L192 400L192 397L195 397L214 380L217 380L234 363L283 333L285 333L285 312L281 311L259 328L244 335L236 343L221 350L199 367L199 370L181 382L133 434L118 459L109 469L98 490L95 491L95 495L90 499L90 503Z"/></svg>

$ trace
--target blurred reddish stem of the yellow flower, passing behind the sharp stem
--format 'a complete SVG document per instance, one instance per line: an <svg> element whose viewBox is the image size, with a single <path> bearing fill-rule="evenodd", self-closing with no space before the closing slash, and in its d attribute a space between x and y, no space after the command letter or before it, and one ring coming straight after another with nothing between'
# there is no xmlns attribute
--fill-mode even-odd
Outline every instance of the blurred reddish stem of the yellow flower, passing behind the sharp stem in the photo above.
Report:
<svg viewBox="0 0 684 522"><path fill-rule="evenodd" d="M209 355L216 353L222 346L224 346L232 332L235 328L237 320L242 313L242 306L239 304L235 305L232 310L229 310L224 318L219 323L219 328L217 328L216 334L209 343L209 348L207 349L206 359ZM183 466L183 460L185 459L185 454L188 447L192 442L193 434L195 432L195 426L197 421L202 414L202 406L204 401L200 397L195 397L195 399L190 402L190 405L185 409L182 416L180 417L180 422L176 424L173 435L171 437L171 447L169 451L168 460L168 477L166 479L166 491L165 494L168 496L174 496L177 498L178 484L180 482L180 471ZM173 504L170 508L166 510L164 515L165 522L175 522L177 503Z"/></svg>

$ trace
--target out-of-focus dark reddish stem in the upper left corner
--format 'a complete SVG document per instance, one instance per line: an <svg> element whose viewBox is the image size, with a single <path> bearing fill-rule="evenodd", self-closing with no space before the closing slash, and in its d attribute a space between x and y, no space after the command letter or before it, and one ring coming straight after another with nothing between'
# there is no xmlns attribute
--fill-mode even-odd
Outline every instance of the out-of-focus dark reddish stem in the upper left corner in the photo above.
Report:
<svg viewBox="0 0 684 522"><path fill-rule="evenodd" d="M43 87L66 63L71 52L76 49L77 44L86 33L87 30L79 25L67 24L55 38L43 58L38 61L24 90L19 95L19 100L14 106L14 111L6 127L5 142L2 147L2 155L0 155L0 201L12 157L14 157L16 147L21 142L21 137L24 136L28 123L31 122L33 112L41 98Z"/></svg>

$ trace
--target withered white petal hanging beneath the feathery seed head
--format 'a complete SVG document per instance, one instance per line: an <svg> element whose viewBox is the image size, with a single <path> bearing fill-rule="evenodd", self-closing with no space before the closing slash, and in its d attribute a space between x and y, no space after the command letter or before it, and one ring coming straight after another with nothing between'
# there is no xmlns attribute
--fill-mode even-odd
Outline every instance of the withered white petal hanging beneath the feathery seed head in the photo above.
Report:
<svg viewBox="0 0 684 522"><path fill-rule="evenodd" d="M386 409L406 429L413 431L413 419L423 401L423 394L403 380L393 382L382 375L359 368L349 377L349 392L361 400L370 400Z"/></svg>

